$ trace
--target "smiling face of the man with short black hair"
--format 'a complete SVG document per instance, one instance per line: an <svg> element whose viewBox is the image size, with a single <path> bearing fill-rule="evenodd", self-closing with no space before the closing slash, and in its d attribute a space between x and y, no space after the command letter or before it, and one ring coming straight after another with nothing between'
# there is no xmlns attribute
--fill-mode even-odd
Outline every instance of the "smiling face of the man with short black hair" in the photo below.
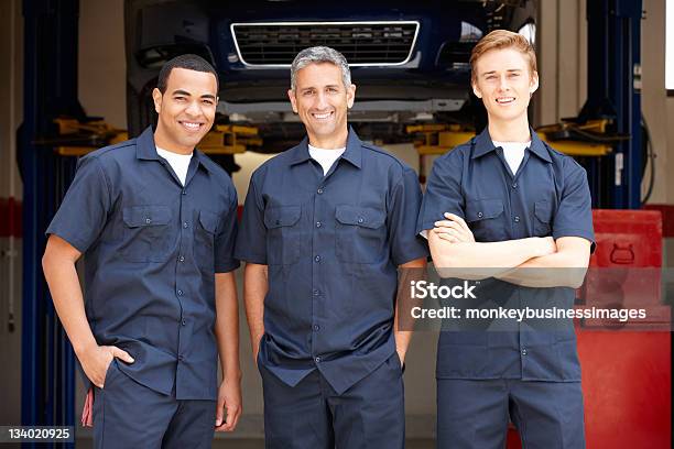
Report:
<svg viewBox="0 0 674 449"><path fill-rule="evenodd" d="M189 154L213 127L217 106L217 80L206 72L174 68L166 90L152 91L159 121L157 146Z"/></svg>

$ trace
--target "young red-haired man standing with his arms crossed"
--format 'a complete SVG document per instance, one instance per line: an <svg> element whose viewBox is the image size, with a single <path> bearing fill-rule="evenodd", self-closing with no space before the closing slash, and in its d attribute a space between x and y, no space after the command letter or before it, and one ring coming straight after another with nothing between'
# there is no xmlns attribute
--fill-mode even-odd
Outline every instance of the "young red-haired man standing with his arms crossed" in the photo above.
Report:
<svg viewBox="0 0 674 449"><path fill-rule="evenodd" d="M441 275L489 269L469 307L523 307L537 299L544 308L568 309L594 247L585 169L529 125L539 75L523 36L489 33L470 64L488 127L435 161L417 231L427 237ZM509 420L524 447L585 447L573 322L470 325L441 332L438 447L503 448Z"/></svg>

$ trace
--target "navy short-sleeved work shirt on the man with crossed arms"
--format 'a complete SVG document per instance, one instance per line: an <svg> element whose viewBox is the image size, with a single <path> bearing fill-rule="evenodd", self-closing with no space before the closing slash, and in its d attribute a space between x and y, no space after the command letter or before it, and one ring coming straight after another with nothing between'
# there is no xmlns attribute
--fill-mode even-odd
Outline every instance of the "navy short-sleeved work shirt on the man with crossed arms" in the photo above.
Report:
<svg viewBox="0 0 674 449"><path fill-rule="evenodd" d="M434 228L444 212L464 218L476 242L529 237L580 237L593 243L591 199L585 169L544 143L531 130L531 145L517 173L485 129L468 143L438 157L428 178L417 231ZM476 296L480 306L535 304L570 308L573 288L528 288L490 278ZM472 300L472 299L471 299ZM475 303L474 303L475 304ZM514 307L513 307L514 306ZM478 306L479 307L479 306ZM438 379L579 381L573 322L542 330L515 324L509 331L443 331ZM466 329L464 328L464 329ZM493 328L493 327L492 327ZM557 330L563 328L565 330Z"/></svg>

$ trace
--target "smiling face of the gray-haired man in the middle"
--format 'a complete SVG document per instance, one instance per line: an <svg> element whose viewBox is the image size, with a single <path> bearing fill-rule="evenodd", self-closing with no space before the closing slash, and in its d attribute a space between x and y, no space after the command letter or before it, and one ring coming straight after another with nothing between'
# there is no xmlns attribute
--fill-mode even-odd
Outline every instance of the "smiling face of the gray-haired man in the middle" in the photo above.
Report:
<svg viewBox="0 0 674 449"><path fill-rule="evenodd" d="M306 127L309 143L322 149L346 145L347 110L354 106L355 95L356 86L346 87L341 69L331 63L301 68L295 90L287 91L293 111Z"/></svg>

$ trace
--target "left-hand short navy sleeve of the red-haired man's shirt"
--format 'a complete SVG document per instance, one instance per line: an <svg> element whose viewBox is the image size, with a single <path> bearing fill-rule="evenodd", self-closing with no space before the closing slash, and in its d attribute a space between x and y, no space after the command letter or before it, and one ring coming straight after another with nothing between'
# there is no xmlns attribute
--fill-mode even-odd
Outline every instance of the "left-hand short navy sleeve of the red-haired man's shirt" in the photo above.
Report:
<svg viewBox="0 0 674 449"><path fill-rule="evenodd" d="M463 166L460 157L450 156L443 156L433 163L416 221L416 233L435 228L434 223L443 220L445 212L466 218L460 183Z"/></svg>

